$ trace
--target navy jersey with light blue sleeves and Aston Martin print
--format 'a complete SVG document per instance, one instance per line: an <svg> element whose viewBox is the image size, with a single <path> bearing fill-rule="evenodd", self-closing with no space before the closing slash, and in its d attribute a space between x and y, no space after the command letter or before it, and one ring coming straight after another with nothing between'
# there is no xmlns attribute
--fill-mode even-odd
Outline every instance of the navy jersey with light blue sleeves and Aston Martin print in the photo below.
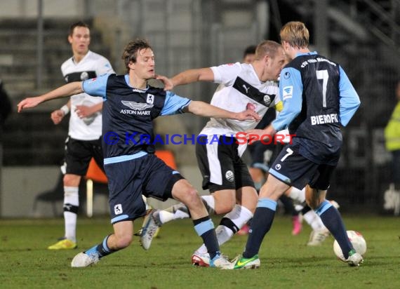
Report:
<svg viewBox="0 0 400 289"><path fill-rule="evenodd" d="M129 77L105 74L84 81L89 95L102 96L102 149L104 163L118 163L154 153L153 119L183 113L190 100L171 91L129 85ZM159 137L159 135L157 135Z"/></svg>

